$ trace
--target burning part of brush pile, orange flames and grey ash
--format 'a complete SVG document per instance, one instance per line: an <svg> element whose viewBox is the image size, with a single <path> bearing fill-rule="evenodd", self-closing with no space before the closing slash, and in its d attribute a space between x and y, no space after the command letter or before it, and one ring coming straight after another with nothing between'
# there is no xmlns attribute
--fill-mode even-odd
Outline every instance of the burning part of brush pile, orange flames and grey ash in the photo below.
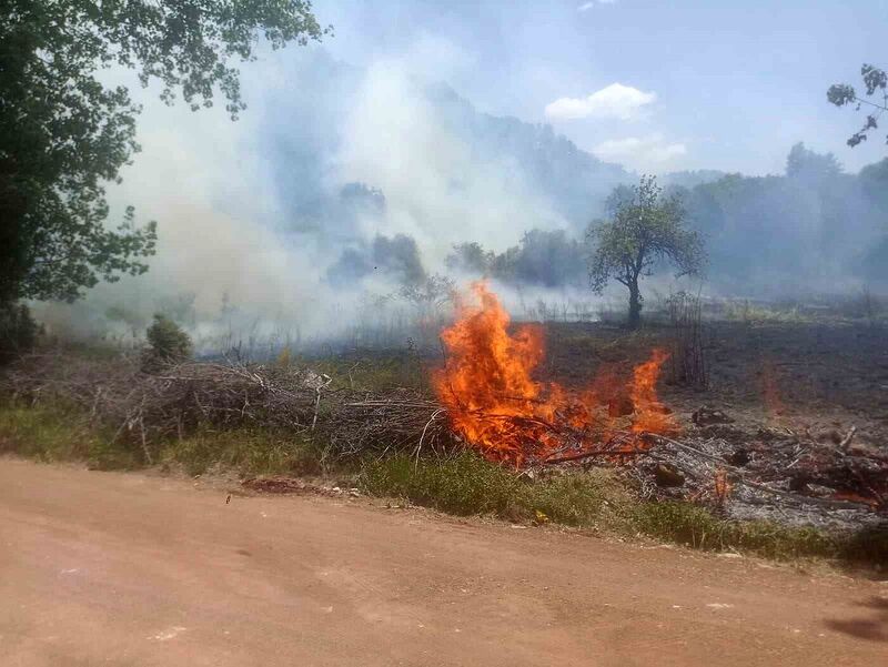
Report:
<svg viewBox="0 0 888 667"><path fill-rule="evenodd" d="M529 469L619 466L648 498L689 499L736 518L841 526L888 512L888 454L854 448L854 431L823 444L793 431L734 426L700 408L684 433L657 398L666 353L654 350L624 382L595 378L583 392L539 383L538 326L509 333L483 283L457 304L433 384L452 428L487 458Z"/></svg>

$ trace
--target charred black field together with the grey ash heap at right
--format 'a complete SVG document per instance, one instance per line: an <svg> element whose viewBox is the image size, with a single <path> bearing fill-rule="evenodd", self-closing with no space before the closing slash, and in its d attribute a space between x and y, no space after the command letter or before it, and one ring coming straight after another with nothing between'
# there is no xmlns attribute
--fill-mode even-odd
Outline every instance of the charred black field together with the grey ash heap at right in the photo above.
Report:
<svg viewBox="0 0 888 667"><path fill-rule="evenodd" d="M632 368L652 348L672 350L675 341L665 326L637 333L598 323L546 329L541 378L579 388L613 376L616 382L605 387L617 401ZM643 493L700 501L734 518L885 525L886 333L837 322L706 323L708 386L674 382L669 362L664 365L659 398L680 425L676 437L684 444L660 441L635 462ZM705 421L700 413L694 417L700 408L708 411ZM717 487L719 475L727 491Z"/></svg>

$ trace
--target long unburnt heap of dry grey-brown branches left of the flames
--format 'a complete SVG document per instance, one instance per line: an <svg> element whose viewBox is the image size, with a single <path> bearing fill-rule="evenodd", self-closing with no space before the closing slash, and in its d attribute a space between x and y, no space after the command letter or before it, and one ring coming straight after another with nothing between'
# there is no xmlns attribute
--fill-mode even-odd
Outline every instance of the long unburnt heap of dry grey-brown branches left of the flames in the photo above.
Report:
<svg viewBox="0 0 888 667"><path fill-rule="evenodd" d="M331 456L452 443L443 408L416 391L381 396L333 384L307 368L188 362L145 373L138 357L50 353L12 364L0 391L30 404L73 407L114 441L132 444L148 463L164 442L202 426L323 436Z"/></svg>

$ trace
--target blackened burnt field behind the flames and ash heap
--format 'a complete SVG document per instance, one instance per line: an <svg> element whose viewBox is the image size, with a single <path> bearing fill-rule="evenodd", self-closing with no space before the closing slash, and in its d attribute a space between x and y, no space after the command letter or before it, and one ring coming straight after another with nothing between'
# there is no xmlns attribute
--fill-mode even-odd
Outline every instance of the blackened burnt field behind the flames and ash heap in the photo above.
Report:
<svg viewBox="0 0 888 667"><path fill-rule="evenodd" d="M545 378L579 388L601 373L628 377L653 347L669 350L672 340L669 327L628 333L599 323L548 323ZM885 327L708 322L704 345L708 388L670 382L668 362L658 385L684 426L707 405L738 425L790 428L834 443L856 426L856 445L888 449Z"/></svg>

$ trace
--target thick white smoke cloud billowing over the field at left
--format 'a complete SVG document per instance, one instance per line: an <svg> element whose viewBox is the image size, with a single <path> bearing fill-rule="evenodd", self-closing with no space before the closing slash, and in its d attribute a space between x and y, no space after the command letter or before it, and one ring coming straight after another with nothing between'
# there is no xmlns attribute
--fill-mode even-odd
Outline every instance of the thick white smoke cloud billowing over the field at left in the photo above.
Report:
<svg viewBox="0 0 888 667"><path fill-rule="evenodd" d="M403 58L385 57L357 70L351 94L333 101L319 95L317 104L325 105L319 109L312 109L304 77L311 53L269 57L242 71L249 108L238 122L221 102L199 112L181 101L167 107L157 90L142 91L123 74L143 104L142 151L124 169L123 182L109 188L109 222L128 204L138 220L157 220L157 255L147 274L102 283L81 302L43 305L39 314L57 331L100 333L112 327L109 309L148 322L163 304L184 300L186 324L199 334L231 326L225 310L233 309L240 325L254 331L295 327L300 335L335 335L360 320L367 303L398 289L386 276L370 275L361 290L334 290L326 271L349 243L411 235L433 272L454 243L471 239L503 250L525 230L564 226L518 165L481 154L423 93L430 83L424 77L435 71L430 60L453 58L452 49L433 46L424 41ZM316 127L269 125L275 111L294 104ZM319 141L327 149L321 188L326 192L317 195L366 183L384 193L384 213L361 216L356 229L322 220L315 233L292 233L282 174L275 173L280 165L268 146L296 130L295 141L306 133L326 141Z"/></svg>

